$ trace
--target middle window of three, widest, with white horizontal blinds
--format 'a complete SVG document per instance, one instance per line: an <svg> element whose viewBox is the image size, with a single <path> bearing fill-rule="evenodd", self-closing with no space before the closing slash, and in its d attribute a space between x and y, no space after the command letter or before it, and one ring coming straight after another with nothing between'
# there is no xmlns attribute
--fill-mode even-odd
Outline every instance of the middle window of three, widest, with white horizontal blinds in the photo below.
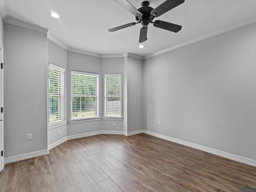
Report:
<svg viewBox="0 0 256 192"><path fill-rule="evenodd" d="M71 71L71 119L99 116L99 75Z"/></svg>

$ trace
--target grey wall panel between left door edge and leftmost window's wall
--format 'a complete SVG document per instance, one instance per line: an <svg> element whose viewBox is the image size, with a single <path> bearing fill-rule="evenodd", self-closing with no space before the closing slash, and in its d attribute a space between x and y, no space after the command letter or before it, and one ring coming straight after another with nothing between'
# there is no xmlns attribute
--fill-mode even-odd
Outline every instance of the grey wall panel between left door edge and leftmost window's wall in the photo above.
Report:
<svg viewBox="0 0 256 192"><path fill-rule="evenodd" d="M47 150L47 34L5 23L4 62L5 158Z"/></svg>

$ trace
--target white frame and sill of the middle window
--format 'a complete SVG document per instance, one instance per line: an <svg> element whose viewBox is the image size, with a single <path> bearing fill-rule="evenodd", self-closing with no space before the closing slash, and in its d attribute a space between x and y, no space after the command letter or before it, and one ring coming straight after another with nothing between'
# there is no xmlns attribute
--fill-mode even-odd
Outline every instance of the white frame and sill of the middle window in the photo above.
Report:
<svg viewBox="0 0 256 192"><path fill-rule="evenodd" d="M87 116L87 117L72 117L72 113L73 113L73 103L72 103L72 98L76 96L76 94L72 94L72 74L78 74L78 75L84 75L84 76L94 76L97 78L97 84L96 84L96 112L97 115L96 116ZM88 72L80 72L80 71L71 71L71 75L70 75L70 104L71 104L71 108L70 108L70 123L74 123L74 122L86 122L86 121L95 121L95 120L100 120L100 116L99 116L99 74L94 74L94 73L88 73Z"/></svg>

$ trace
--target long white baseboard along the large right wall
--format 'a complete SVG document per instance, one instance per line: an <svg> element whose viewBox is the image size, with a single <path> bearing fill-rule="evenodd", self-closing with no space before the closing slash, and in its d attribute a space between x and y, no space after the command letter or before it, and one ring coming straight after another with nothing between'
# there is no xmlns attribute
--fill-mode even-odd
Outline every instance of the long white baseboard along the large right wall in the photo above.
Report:
<svg viewBox="0 0 256 192"><path fill-rule="evenodd" d="M227 158L227 159L231 159L231 160L234 160L234 161L238 161L238 162L256 167L256 160L253 160L253 159L245 158L245 157L238 156L238 155L235 155L235 154L230 154L230 153L227 153L227 152L224 152L224 151L216 150L216 149L213 149L213 148L205 147L205 146L194 144L194 143L191 143L191 142L186 142L186 141L183 141L183 140L179 140L179 139L172 138L172 137L169 137L169 136L165 136L165 135L161 135L161 134L158 134L158 133L150 132L150 131L147 131L147 130L143 130L143 133L146 133L148 135L152 135L152 136L155 136L155 137L158 137L158 138L162 138L164 140L172 141L172 142L175 142L175 143L178 143L178 144L182 144L182 145L185 145L185 146L188 146L188 147L192 147L192 148L195 148L195 149L198 149L198 150L201 150L201 151L205 151L205 152L208 152L208 153L211 153L211 154L214 154L214 155L218 155L218 156L221 156L221 157L224 157L224 158Z"/></svg>

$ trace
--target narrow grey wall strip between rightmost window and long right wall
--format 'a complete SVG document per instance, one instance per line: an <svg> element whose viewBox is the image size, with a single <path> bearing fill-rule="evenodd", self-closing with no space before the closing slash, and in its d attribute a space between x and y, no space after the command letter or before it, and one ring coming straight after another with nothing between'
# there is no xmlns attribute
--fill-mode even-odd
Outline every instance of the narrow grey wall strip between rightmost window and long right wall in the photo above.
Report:
<svg viewBox="0 0 256 192"><path fill-rule="evenodd" d="M142 64L141 59L129 55L124 58L124 132L127 133L142 130Z"/></svg>

